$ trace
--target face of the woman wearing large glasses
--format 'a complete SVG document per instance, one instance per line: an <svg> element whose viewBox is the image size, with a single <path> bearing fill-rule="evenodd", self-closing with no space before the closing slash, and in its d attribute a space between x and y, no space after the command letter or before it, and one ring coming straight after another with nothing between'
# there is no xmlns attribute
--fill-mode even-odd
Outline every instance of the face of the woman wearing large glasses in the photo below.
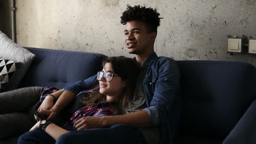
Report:
<svg viewBox="0 0 256 144"><path fill-rule="evenodd" d="M115 73L111 63L106 63L104 65L104 68L102 69L104 73L110 72ZM104 77L102 76L100 78L100 93L107 95L106 101L116 101L118 100L119 95L123 91L123 88L125 87L125 82L122 80L120 76L113 75L113 78L111 81L106 81Z"/></svg>

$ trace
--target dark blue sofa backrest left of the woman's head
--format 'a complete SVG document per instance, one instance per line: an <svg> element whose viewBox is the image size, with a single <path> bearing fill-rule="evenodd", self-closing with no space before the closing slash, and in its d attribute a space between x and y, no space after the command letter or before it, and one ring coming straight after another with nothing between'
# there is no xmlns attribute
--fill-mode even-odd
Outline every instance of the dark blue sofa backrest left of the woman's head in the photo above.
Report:
<svg viewBox="0 0 256 144"><path fill-rule="evenodd" d="M103 59L107 57L90 52L25 48L36 57L19 87L63 88L96 74L101 70Z"/></svg>

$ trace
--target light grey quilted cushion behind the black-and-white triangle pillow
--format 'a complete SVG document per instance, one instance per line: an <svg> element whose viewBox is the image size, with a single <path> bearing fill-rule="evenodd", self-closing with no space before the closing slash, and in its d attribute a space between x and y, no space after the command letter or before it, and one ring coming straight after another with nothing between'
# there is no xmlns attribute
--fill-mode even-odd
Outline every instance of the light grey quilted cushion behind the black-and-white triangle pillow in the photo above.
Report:
<svg viewBox="0 0 256 144"><path fill-rule="evenodd" d="M0 31L0 58L20 63L16 73L13 75L13 79L15 79L15 81L10 81L3 91L18 88L22 77L25 75L28 67L30 67L31 62L34 59L34 54L18 44L15 44L7 37L7 35Z"/></svg>

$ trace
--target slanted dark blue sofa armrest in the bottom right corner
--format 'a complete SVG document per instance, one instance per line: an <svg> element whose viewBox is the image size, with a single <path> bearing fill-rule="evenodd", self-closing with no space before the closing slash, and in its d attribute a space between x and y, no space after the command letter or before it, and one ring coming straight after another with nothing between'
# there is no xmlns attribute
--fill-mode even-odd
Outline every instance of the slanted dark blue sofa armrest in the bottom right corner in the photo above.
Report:
<svg viewBox="0 0 256 144"><path fill-rule="evenodd" d="M256 100L249 106L245 114L238 121L229 135L223 141L224 144L256 143Z"/></svg>

